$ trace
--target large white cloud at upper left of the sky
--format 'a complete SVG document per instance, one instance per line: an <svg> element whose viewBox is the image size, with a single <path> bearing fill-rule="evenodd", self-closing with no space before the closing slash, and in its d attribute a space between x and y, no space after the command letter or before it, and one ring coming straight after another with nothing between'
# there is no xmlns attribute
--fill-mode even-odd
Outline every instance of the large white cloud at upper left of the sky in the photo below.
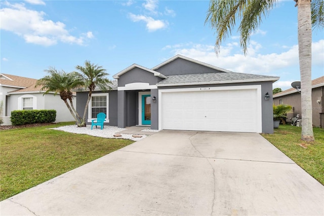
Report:
<svg viewBox="0 0 324 216"><path fill-rule="evenodd" d="M24 4L10 4L0 10L1 29L12 31L25 39L27 43L52 46L59 41L83 45L85 37L70 35L62 22L46 20L44 12L29 10ZM86 34L86 38L93 37L92 32Z"/></svg>

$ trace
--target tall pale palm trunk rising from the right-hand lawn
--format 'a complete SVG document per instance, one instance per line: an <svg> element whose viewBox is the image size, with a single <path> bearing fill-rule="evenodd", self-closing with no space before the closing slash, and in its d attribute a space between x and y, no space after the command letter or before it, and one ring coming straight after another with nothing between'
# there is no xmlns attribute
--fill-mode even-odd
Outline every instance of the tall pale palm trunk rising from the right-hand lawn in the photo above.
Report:
<svg viewBox="0 0 324 216"><path fill-rule="evenodd" d="M298 46L301 78L302 140L313 141L311 46L312 26L310 0L298 0Z"/></svg>

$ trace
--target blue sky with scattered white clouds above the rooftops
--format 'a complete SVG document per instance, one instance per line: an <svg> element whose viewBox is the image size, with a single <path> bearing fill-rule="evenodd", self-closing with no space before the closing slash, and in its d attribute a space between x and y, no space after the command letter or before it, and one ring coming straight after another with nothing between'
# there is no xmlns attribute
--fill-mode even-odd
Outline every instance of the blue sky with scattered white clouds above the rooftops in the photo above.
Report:
<svg viewBox="0 0 324 216"><path fill-rule="evenodd" d="M209 1L1 1L1 73L39 79L85 60L112 75L133 63L152 68L181 54L234 72L300 80L297 8L279 1L251 37L248 55L236 31L214 52L205 25ZM324 76L324 31L313 30L312 79Z"/></svg>

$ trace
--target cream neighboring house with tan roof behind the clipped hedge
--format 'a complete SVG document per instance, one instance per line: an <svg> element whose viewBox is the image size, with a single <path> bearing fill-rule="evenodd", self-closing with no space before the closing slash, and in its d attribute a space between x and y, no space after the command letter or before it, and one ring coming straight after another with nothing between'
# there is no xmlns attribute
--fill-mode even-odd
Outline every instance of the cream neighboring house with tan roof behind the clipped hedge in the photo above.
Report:
<svg viewBox="0 0 324 216"><path fill-rule="evenodd" d="M41 87L35 88L36 81L0 74L0 101L3 101L4 125L11 125L10 116L14 110L56 110L56 122L74 121L60 95L43 95Z"/></svg>

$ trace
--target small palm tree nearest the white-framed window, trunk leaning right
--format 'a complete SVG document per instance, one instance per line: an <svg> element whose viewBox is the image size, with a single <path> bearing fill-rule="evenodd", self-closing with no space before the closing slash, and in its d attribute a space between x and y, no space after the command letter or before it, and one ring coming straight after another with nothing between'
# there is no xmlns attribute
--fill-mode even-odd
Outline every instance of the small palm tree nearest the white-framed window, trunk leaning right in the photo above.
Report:
<svg viewBox="0 0 324 216"><path fill-rule="evenodd" d="M75 72L79 78L83 81L82 86L89 90L88 100L86 102L85 112L83 114L82 122L79 124L80 127L86 126L86 116L88 113L88 106L91 99L92 92L98 88L102 91L110 90L110 80L106 77L109 75L106 73L106 69L98 64L93 64L89 60L85 61L84 66L77 65L75 67L80 73Z"/></svg>

